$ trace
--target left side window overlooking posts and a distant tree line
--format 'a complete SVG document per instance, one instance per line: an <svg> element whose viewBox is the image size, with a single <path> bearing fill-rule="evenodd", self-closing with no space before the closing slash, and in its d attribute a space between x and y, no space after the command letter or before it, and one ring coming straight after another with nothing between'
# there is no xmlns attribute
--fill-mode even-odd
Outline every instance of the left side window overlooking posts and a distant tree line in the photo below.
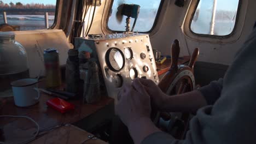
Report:
<svg viewBox="0 0 256 144"><path fill-rule="evenodd" d="M0 31L28 31L53 26L56 1L0 1Z"/></svg>

